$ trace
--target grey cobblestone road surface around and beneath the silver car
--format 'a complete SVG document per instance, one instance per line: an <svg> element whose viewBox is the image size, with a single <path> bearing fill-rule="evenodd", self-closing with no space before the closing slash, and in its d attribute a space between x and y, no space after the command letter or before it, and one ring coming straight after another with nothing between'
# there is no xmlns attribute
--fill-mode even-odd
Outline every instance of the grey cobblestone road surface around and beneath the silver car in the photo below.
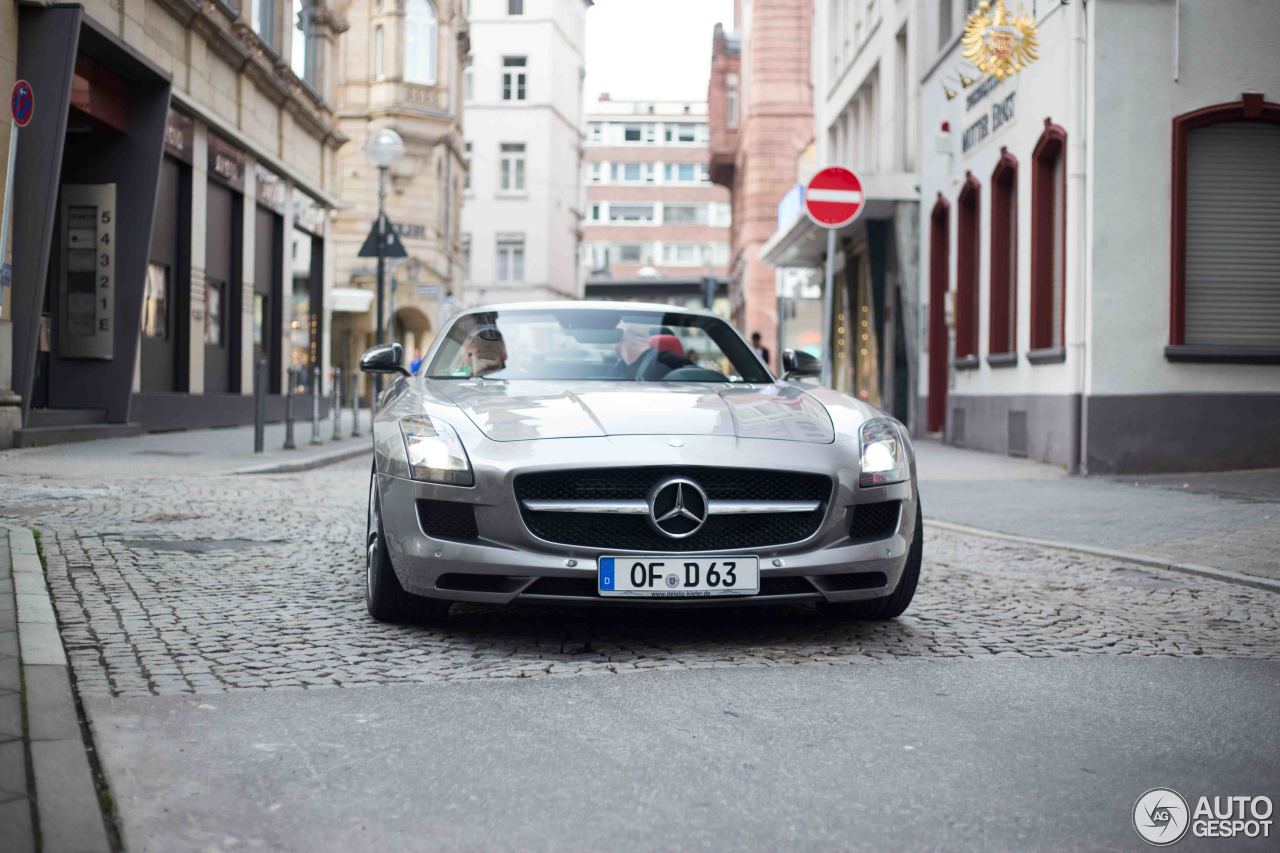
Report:
<svg viewBox="0 0 1280 853"><path fill-rule="evenodd" d="M810 607L456 606L438 628L362 599L367 461L282 476L4 478L44 534L86 695L206 694L897 658L1280 658L1280 596L931 532L915 603L884 624Z"/></svg>

